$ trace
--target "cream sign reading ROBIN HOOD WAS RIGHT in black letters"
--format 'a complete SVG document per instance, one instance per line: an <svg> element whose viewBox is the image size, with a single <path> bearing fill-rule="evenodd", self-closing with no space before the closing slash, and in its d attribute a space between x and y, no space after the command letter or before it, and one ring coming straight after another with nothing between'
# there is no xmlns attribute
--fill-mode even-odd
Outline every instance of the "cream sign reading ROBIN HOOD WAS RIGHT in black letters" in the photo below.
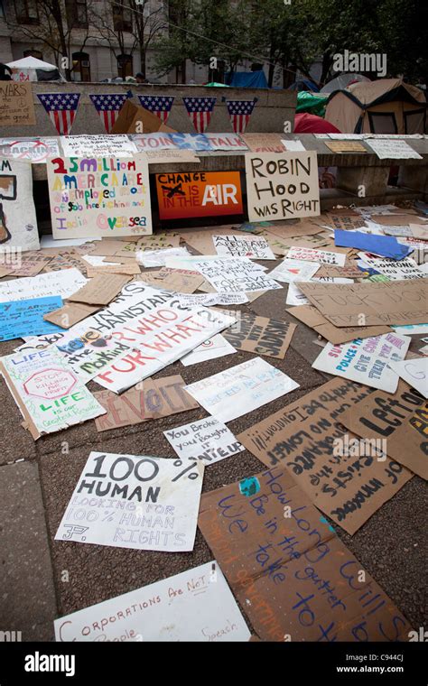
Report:
<svg viewBox="0 0 428 686"><path fill-rule="evenodd" d="M250 221L320 214L317 153L246 153Z"/></svg>

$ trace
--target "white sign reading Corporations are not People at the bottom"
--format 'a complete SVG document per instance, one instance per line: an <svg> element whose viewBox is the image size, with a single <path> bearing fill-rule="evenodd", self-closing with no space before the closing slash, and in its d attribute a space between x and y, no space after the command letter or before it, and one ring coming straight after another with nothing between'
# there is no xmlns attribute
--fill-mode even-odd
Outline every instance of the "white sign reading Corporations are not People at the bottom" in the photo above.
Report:
<svg viewBox="0 0 428 686"><path fill-rule="evenodd" d="M250 637L216 561L61 616L54 625L57 641L195 643Z"/></svg>

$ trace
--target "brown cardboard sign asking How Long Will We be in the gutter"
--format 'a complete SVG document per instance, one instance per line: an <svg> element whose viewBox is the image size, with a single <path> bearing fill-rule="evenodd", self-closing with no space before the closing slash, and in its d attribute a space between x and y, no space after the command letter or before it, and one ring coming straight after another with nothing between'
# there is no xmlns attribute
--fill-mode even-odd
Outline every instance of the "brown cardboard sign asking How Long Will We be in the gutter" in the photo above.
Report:
<svg viewBox="0 0 428 686"><path fill-rule="evenodd" d="M358 581L361 563L284 469L204 494L198 524L262 640L408 640L405 617L368 571Z"/></svg>

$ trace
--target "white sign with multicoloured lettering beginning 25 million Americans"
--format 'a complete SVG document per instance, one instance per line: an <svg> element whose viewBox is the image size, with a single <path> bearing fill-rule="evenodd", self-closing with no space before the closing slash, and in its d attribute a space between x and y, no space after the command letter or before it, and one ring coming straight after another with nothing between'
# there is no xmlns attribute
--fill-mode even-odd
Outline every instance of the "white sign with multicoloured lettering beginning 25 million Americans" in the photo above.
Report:
<svg viewBox="0 0 428 686"><path fill-rule="evenodd" d="M152 233L144 155L55 157L47 169L54 238Z"/></svg>

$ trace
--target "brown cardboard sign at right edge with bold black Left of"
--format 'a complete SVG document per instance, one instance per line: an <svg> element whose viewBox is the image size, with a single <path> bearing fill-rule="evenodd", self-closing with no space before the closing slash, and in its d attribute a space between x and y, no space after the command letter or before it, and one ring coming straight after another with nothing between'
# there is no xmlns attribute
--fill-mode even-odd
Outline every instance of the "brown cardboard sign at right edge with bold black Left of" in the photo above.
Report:
<svg viewBox="0 0 428 686"><path fill-rule="evenodd" d="M422 396L401 379L394 395L375 391L340 416L350 431L383 443L388 457L424 479L428 479L427 420Z"/></svg>

